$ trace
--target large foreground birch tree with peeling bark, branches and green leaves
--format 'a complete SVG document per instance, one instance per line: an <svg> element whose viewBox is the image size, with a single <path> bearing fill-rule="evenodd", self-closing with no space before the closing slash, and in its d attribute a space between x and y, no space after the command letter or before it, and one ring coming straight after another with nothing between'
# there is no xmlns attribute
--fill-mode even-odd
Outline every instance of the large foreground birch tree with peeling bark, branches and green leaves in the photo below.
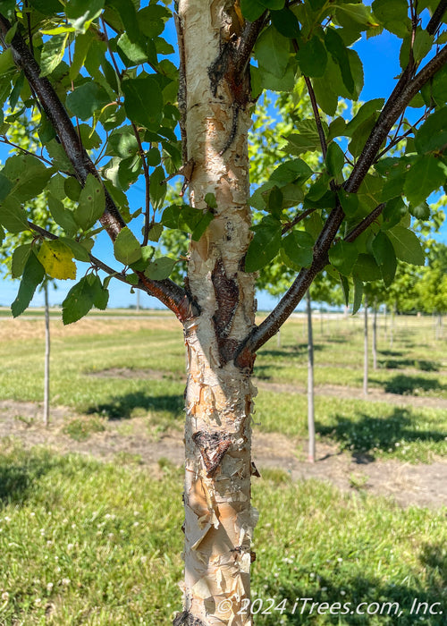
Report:
<svg viewBox="0 0 447 626"><path fill-rule="evenodd" d="M388 281L395 258L408 260L411 251L424 262L410 226L445 182L446 5L179 0L177 68L164 58L173 47L162 37L172 15L163 4L1 4L2 100L13 112L41 112L40 150L8 158L0 173L0 237L4 230L35 237L22 259L13 314L26 309L46 274L69 275L73 258L89 259L63 302L64 323L104 308L114 277L156 296L184 328L185 591L177 626L251 623L257 512L250 503L250 377L257 350L325 266L341 276L345 292L353 283L358 309L363 283L372 275ZM361 33L383 29L402 40L401 75L390 97L344 118L339 99L357 100L363 87L351 46ZM291 91L299 76L312 115L294 122L283 163L250 200L253 106L264 89ZM418 111L416 122L407 121L408 106ZM307 165L300 157L308 152L322 165ZM166 179L175 173L184 179L183 198L189 186L190 204L179 198L162 216ZM125 194L141 175L142 216ZM24 203L43 190L63 239L30 223ZM263 214L254 231L250 202ZM89 251L97 222L113 242L114 261ZM152 243L164 228L190 232L184 286L170 278L177 258L154 257ZM257 326L255 274L278 255L299 272Z"/></svg>

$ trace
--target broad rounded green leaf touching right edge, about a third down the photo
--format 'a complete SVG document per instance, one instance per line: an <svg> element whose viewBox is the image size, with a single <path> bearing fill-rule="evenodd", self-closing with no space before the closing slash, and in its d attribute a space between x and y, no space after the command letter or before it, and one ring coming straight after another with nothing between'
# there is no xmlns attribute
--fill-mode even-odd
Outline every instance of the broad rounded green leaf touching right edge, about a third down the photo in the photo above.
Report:
<svg viewBox="0 0 447 626"><path fill-rule="evenodd" d="M441 161L431 155L419 157L411 165L403 187L409 202L414 205L420 204L432 191L444 184L445 173L441 165Z"/></svg>

